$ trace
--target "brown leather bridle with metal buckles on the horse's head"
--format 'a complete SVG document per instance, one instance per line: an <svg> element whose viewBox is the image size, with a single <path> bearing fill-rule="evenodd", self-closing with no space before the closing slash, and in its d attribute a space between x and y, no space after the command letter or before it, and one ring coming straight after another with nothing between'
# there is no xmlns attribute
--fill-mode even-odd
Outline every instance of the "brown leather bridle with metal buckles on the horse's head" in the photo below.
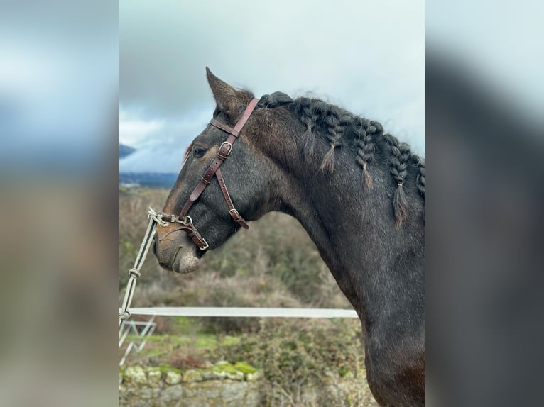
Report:
<svg viewBox="0 0 544 407"><path fill-rule="evenodd" d="M234 208L234 204L232 203L229 191L227 190L227 184L225 184L224 182L224 178L221 174L221 169L219 167L221 167L224 160L227 160L227 157L229 157L229 154L232 151L232 145L240 135L241 129L246 124L246 121L247 119L249 119L249 116L251 116L251 113L253 113L258 102L259 99L256 98L249 102L246 110L244 111L244 114L241 115L240 120L236 123L234 128L231 128L226 124L212 118L210 124L223 130L226 133L229 133L229 137L221 144L221 147L219 147L219 150L217 151L217 154L215 155L212 164L210 165L210 167L208 167L206 173L204 174L204 177L202 177L200 179L200 182L198 182L197 186L195 186L195 189L192 190L192 193L190 194L189 199L187 199L187 202L185 202L185 205L183 206L179 216L170 215L169 213L165 212L157 213L158 219L163 221L162 223L159 223L159 225L161 226L168 225L167 222L181 224L179 228L170 230L167 235L171 232L174 232L175 230L183 230L192 239L192 241L195 242L195 245L197 245L200 250L207 250L207 248L209 247L208 243L204 238L202 238L202 235L200 235L197 228L195 228L195 225L193 225L192 218L188 216L187 213L189 212L191 206L195 204L195 201L197 201L202 192L205 190L206 186L210 185L210 183L212 182L212 177L214 175L215 177L217 177L217 182L219 182L223 197L227 202L227 206L229 207L229 215L231 216L232 220L241 225L242 228L249 228L246 220L240 215L236 208ZM163 240L165 237L166 235L164 235L159 240Z"/></svg>

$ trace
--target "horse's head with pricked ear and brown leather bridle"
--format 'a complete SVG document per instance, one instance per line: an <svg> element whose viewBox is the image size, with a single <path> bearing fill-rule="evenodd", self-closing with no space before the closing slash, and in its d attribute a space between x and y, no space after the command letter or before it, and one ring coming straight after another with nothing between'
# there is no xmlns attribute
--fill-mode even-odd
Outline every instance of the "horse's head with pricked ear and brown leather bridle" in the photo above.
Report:
<svg viewBox="0 0 544 407"><path fill-rule="evenodd" d="M154 247L163 268L181 273L195 271L208 249L219 247L246 228L246 221L271 210L271 184L277 172L256 148L256 140L268 137L266 120L248 111L251 103L255 108L256 99L206 69L217 106L210 124L185 152L161 213L170 222L158 228ZM236 134L234 128L242 119Z"/></svg>

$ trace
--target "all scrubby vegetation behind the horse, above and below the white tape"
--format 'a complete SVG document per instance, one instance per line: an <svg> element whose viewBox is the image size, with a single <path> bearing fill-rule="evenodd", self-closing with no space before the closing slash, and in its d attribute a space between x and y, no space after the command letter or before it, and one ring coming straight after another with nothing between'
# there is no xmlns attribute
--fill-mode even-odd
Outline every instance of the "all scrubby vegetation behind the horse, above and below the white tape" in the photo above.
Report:
<svg viewBox="0 0 544 407"><path fill-rule="evenodd" d="M119 190L120 299L145 233L147 209L162 208L167 195L163 189ZM269 213L219 250L207 253L193 274L166 272L153 255L148 256L133 306L351 308L305 230L281 213ZM158 318L157 322L146 351L131 363L185 369L220 359L243 360L265 370L269 391L263 406L303 406L303 386L322 377L350 375L360 377L361 386L349 402L335 405L374 406L364 384L358 320ZM281 401L285 394L287 404Z"/></svg>

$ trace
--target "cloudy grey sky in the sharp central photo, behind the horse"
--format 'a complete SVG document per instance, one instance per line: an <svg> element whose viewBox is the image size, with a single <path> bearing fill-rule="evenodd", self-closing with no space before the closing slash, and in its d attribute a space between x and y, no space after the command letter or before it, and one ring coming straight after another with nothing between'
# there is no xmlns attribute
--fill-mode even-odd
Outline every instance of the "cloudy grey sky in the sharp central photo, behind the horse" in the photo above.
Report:
<svg viewBox="0 0 544 407"><path fill-rule="evenodd" d="M214 109L205 67L257 97L321 97L424 155L423 1L140 1L119 5L120 171L178 172Z"/></svg>

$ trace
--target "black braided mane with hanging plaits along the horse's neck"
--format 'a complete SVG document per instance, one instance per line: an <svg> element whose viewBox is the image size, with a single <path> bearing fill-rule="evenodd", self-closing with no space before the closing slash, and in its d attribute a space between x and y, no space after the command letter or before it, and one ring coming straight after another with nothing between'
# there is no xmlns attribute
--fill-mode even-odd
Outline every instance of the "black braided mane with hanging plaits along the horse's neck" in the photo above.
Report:
<svg viewBox="0 0 544 407"><path fill-rule="evenodd" d="M397 225L400 225L408 214L408 204L403 191L408 177L408 165L418 170L415 184L420 195L425 199L425 160L415 155L408 144L399 142L397 138L384 133L383 126L377 121L356 116L320 99L300 97L293 100L282 92L262 96L257 106L260 108L283 106L298 116L306 126L300 140L305 160L315 156L317 138L324 139L330 148L322 158L320 170L323 172L334 172L334 154L338 147L355 145L357 163L363 170L365 185L368 188L372 186L372 178L367 167L374 163L376 150L378 150L376 147L379 146L379 151L386 154L389 172L397 184L393 196L393 210Z"/></svg>

